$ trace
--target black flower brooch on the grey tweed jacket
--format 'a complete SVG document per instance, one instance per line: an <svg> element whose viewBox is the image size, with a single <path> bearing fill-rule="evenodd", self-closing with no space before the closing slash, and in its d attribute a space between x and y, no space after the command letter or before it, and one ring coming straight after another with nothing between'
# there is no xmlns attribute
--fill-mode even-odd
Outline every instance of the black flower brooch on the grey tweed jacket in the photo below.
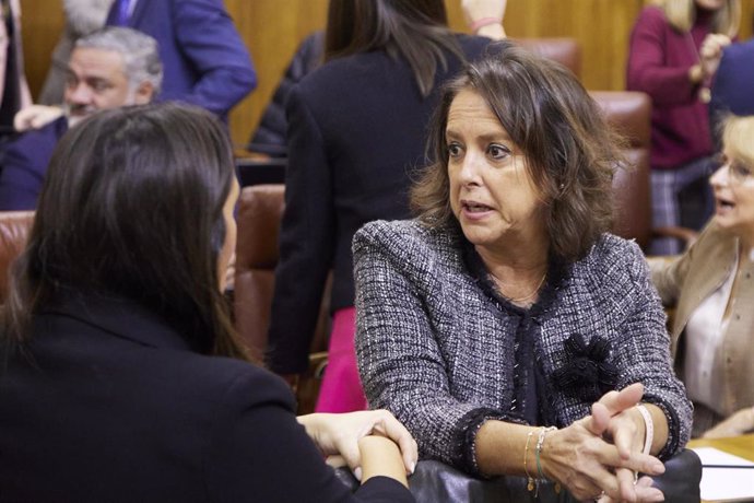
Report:
<svg viewBox="0 0 754 503"><path fill-rule="evenodd" d="M580 334L574 334L563 346L565 363L555 370L553 381L564 395L591 402L615 389L618 373L615 365L608 361L608 339L592 337L587 344Z"/></svg>

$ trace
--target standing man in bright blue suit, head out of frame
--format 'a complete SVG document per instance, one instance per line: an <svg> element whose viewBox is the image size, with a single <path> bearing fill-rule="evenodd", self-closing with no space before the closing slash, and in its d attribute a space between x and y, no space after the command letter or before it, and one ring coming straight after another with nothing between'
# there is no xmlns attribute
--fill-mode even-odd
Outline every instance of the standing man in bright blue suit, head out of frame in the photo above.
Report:
<svg viewBox="0 0 754 503"><path fill-rule="evenodd" d="M107 24L157 40L165 66L160 100L225 117L257 85L251 57L222 0L116 0Z"/></svg>

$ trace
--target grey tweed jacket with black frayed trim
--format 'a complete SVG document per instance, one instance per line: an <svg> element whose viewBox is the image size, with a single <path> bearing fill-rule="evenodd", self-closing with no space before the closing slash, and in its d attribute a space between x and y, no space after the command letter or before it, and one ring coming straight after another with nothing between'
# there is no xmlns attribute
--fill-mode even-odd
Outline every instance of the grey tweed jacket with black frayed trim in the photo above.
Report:
<svg viewBox="0 0 754 503"><path fill-rule="evenodd" d="M422 457L473 472L478 429L511 418L514 332L525 309L480 288L464 242L416 221L374 222L355 235L356 352L370 407L392 411ZM570 336L606 339L615 388L644 384L644 400L668 417L661 456L674 454L688 440L692 407L673 374L665 317L639 247L605 234L567 269L550 308L533 319L533 358L545 381L539 401L555 410L557 426L589 414L599 396L576 398L553 375L573 360Z"/></svg>

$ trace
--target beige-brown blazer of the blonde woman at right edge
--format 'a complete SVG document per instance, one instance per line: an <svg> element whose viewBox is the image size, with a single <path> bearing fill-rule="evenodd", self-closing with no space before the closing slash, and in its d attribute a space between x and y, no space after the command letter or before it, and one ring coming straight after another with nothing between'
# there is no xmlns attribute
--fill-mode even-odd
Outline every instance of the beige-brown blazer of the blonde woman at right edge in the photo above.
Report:
<svg viewBox="0 0 754 503"><path fill-rule="evenodd" d="M678 369L683 367L683 334L688 318L733 272L738 246L738 238L712 221L685 254L649 261L662 302L675 306L671 349ZM728 328L715 352L711 379L716 401L706 403L724 417L754 406L754 262L741 260L730 293Z"/></svg>

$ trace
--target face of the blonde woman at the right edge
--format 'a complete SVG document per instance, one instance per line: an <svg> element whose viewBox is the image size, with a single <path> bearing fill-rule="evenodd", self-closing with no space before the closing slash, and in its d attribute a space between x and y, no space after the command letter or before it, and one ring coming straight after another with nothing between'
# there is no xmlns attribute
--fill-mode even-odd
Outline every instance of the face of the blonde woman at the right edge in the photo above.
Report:
<svg viewBox="0 0 754 503"><path fill-rule="evenodd" d="M754 237L754 166L723 149L724 164L709 179L715 220L740 236Z"/></svg>

